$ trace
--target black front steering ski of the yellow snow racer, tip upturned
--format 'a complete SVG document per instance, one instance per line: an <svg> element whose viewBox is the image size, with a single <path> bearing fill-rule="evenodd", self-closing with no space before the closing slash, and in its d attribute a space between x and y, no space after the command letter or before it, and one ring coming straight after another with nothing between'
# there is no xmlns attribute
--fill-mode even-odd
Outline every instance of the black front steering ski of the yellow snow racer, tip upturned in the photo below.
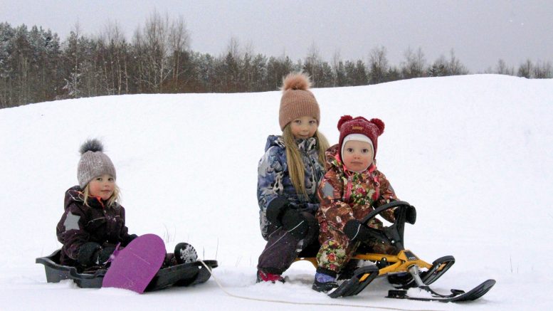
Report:
<svg viewBox="0 0 553 311"><path fill-rule="evenodd" d="M478 298L485 295L491 288L495 285L495 280L487 280L484 283L476 286L468 292L463 292L463 290L451 290L451 295L440 295L433 290L430 290L428 286L419 287L423 290L431 292L435 297L410 297L407 295L406 290L389 290L386 298L395 298L395 299L408 299L408 300L419 300L419 301L439 301L439 302L463 302L463 301L472 301L477 300Z"/></svg>

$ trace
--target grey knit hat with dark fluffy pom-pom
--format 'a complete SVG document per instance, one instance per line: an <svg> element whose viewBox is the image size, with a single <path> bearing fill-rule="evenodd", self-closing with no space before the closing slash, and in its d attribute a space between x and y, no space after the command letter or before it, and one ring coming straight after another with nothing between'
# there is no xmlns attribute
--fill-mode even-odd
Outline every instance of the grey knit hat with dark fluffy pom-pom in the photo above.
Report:
<svg viewBox="0 0 553 311"><path fill-rule="evenodd" d="M89 181L103 174L109 174L117 179L115 167L103 151L104 146L98 139L88 139L80 146L80 160L77 168L80 189L85 189Z"/></svg>

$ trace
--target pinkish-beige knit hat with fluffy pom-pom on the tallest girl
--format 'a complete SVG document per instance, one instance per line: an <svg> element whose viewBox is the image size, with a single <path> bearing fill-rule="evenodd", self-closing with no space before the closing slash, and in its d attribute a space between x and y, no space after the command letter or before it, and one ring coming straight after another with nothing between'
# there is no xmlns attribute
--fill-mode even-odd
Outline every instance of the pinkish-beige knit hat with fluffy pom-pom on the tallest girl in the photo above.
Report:
<svg viewBox="0 0 553 311"><path fill-rule="evenodd" d="M309 90L311 81L304 73L290 73L283 80L283 97L280 98L278 122L280 130L298 117L315 117L320 123L319 104Z"/></svg>

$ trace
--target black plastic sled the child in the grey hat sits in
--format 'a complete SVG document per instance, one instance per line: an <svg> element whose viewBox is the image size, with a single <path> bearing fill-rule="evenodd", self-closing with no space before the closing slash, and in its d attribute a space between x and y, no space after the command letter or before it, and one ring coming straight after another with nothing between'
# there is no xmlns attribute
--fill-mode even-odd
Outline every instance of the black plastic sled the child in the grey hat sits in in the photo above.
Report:
<svg viewBox="0 0 553 311"><path fill-rule="evenodd" d="M46 282L58 283L60 280L73 280L79 288L101 288L102 280L107 270L100 269L91 273L79 273L77 268L68 265L60 265L61 250L53 252L46 257L36 258L36 263L44 265ZM218 267L217 260L203 260L209 269ZM201 261L183 263L171 267L159 269L146 291L161 290L170 286L190 286L204 283L211 277L211 272L206 269Z"/></svg>

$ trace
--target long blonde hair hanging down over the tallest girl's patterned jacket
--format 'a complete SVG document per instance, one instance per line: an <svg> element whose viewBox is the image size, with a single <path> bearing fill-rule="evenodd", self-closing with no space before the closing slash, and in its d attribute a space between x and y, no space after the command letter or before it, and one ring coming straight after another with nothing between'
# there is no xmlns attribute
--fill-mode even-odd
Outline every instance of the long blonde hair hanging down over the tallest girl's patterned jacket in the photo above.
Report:
<svg viewBox="0 0 553 311"><path fill-rule="evenodd" d="M322 135L319 130L315 131L313 135L317 139L317 149L318 149L318 161L321 164L321 167L325 167L325 151L328 149L329 144L325 135ZM297 149L297 144L295 143L294 135L292 134L292 129L290 123L284 127L283 130L283 140L286 147L286 163L288 164L288 174L290 175L290 181L299 196L300 194L307 196L307 191L305 190L305 166L303 165L302 157L300 150Z"/></svg>

